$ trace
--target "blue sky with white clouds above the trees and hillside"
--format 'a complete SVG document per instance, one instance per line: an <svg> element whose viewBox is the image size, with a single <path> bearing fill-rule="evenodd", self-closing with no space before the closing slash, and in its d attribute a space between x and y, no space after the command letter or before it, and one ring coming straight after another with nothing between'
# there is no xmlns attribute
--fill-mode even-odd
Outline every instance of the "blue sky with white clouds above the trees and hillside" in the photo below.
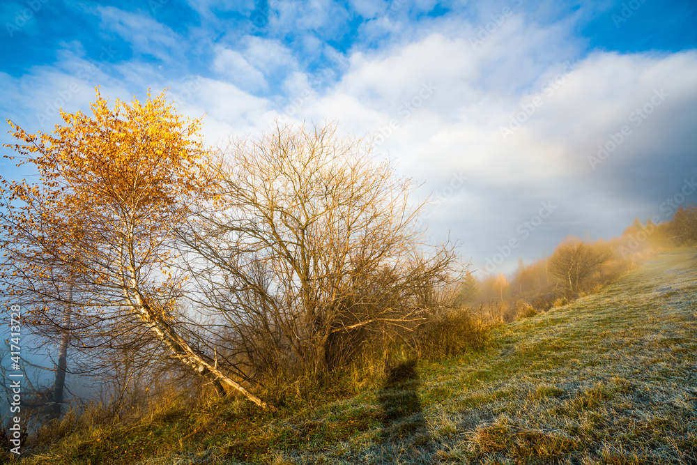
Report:
<svg viewBox="0 0 697 465"><path fill-rule="evenodd" d="M491 273L666 220L697 176L694 1L25 0L0 17L3 119L52 130L100 86L170 89L210 144L339 121L423 182L436 240L475 268L505 258Z"/></svg>

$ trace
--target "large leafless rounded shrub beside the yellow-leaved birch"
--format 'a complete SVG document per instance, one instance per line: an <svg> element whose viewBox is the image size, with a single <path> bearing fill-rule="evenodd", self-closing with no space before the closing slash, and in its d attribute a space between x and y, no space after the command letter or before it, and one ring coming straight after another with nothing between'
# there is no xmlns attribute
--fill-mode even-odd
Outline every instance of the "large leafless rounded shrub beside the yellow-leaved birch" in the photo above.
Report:
<svg viewBox="0 0 697 465"><path fill-rule="evenodd" d="M463 275L415 229L413 181L331 125L236 140L219 166L221 207L202 205L182 241L240 379L349 365L427 321Z"/></svg>

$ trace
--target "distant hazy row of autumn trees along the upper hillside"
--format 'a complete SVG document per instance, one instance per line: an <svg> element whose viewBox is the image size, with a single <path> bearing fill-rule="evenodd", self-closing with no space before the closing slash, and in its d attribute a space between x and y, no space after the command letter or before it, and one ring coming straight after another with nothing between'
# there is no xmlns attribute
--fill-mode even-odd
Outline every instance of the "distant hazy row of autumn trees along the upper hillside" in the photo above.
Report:
<svg viewBox="0 0 697 465"><path fill-rule="evenodd" d="M635 219L622 236L590 243L569 236L549 257L519 261L512 276L470 274L460 284L459 302L491 321L512 321L592 294L652 254L697 245L697 207L684 206L671 220L642 224Z"/></svg>

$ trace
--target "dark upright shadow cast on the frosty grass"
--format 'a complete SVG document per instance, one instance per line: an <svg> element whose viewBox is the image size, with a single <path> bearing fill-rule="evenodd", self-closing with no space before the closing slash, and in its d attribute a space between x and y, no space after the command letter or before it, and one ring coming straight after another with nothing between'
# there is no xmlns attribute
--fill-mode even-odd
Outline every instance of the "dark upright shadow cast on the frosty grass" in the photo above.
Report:
<svg viewBox="0 0 697 465"><path fill-rule="evenodd" d="M418 442L428 441L426 423L419 399L419 374L416 361L400 363L388 369L385 386L378 392L383 407L382 441L413 436Z"/></svg>

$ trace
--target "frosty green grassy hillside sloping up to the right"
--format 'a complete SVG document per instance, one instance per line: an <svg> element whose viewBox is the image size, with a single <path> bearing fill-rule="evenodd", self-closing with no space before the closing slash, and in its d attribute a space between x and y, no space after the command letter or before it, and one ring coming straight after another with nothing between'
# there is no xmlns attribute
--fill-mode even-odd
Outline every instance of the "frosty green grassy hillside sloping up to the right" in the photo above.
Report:
<svg viewBox="0 0 697 465"><path fill-rule="evenodd" d="M93 427L29 464L695 464L697 249L600 294L494 330L486 349L404 365L339 402L332 388L260 413L163 406ZM108 462L107 462L108 461Z"/></svg>

